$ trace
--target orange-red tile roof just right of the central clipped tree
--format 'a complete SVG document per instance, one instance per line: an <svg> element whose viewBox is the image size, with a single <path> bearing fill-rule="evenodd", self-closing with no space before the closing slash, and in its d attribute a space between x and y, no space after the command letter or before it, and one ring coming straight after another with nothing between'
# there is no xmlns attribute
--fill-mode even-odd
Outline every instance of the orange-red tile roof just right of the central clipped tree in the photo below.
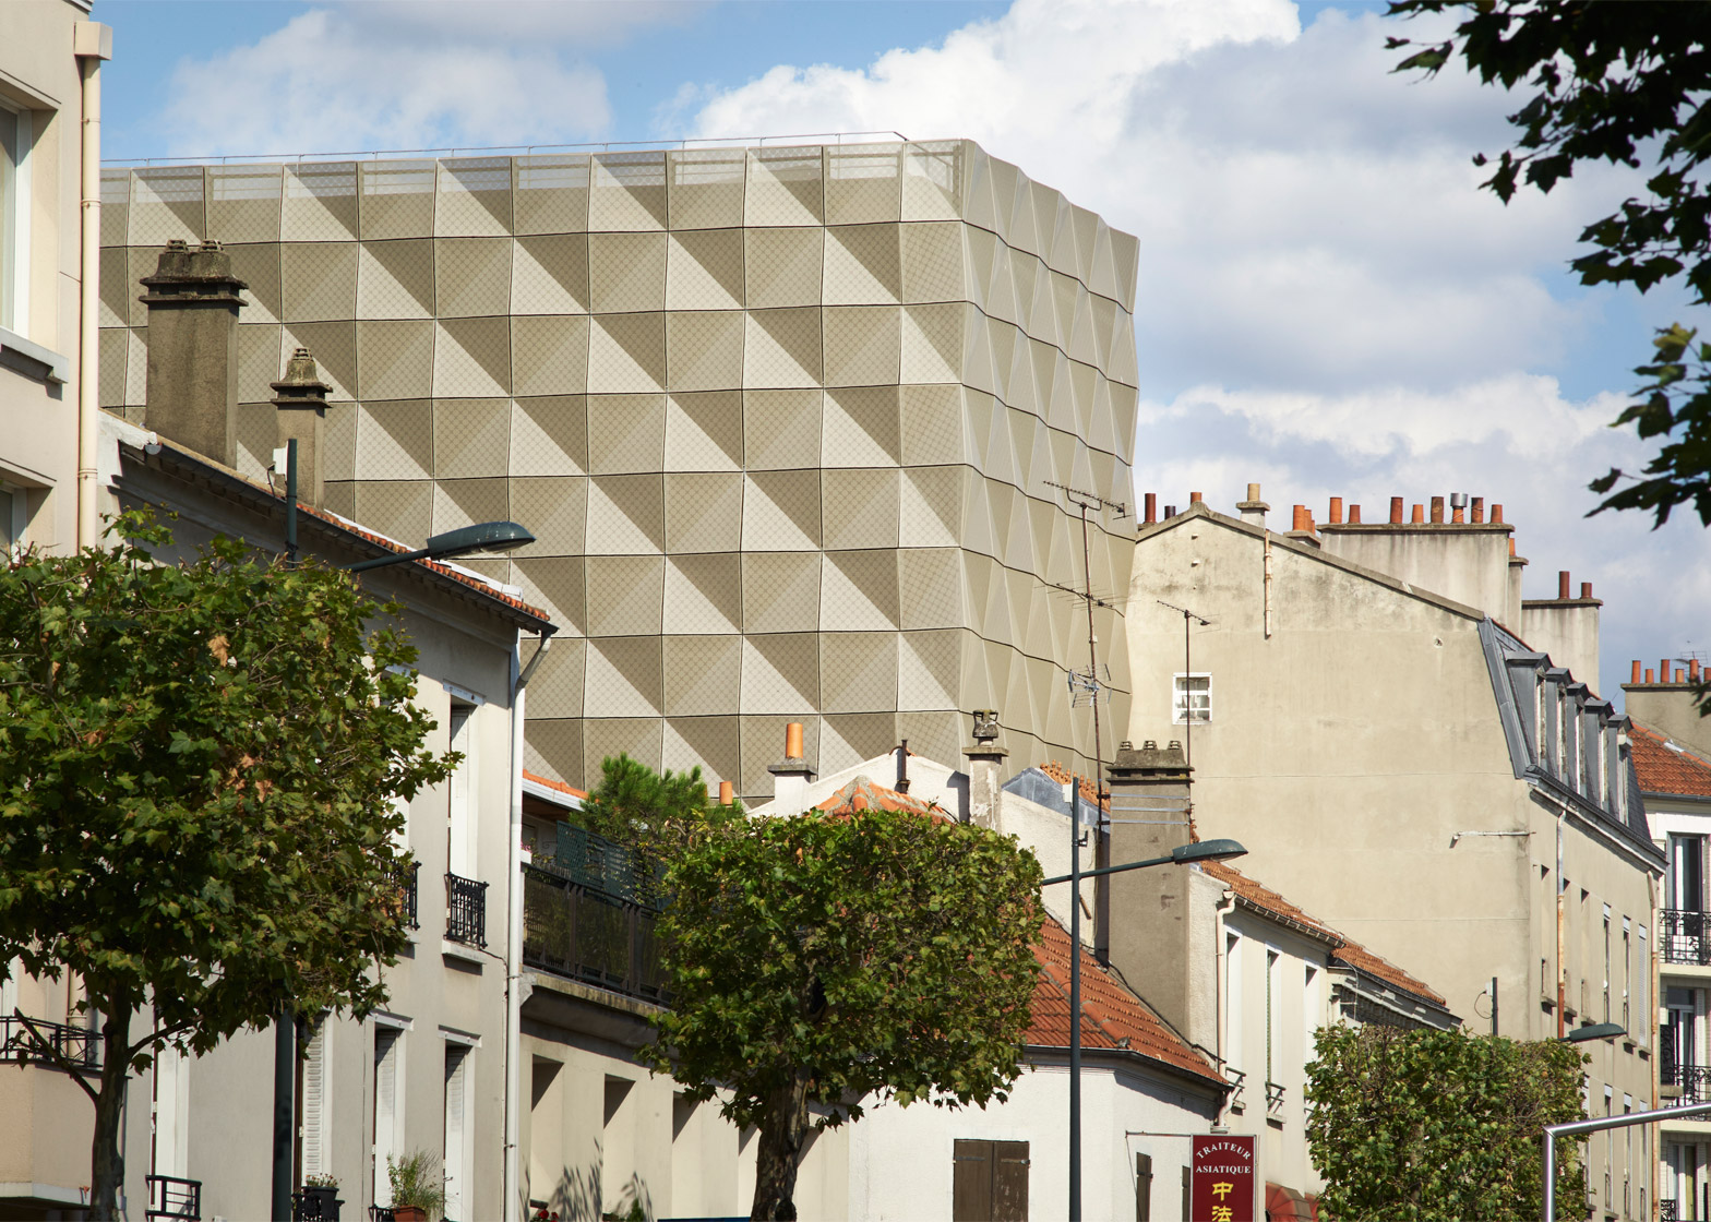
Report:
<svg viewBox="0 0 1711 1222"><path fill-rule="evenodd" d="M1223 1077L1199 1051L1172 1032L1129 993L1110 972L1098 965L1086 946L1081 955L1081 1047L1128 1049L1155 1061L1225 1085ZM1033 989L1033 1022L1028 1044L1042 1047L1069 1046L1069 934L1051 916L1033 946L1040 960L1040 982Z"/></svg>

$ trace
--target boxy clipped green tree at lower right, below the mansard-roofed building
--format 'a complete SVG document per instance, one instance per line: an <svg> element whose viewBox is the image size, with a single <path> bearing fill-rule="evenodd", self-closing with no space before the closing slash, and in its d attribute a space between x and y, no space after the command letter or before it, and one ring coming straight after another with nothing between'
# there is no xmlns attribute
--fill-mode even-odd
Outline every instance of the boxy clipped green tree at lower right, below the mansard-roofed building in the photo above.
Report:
<svg viewBox="0 0 1711 1222"><path fill-rule="evenodd" d="M1321 1027L1307 1066L1319 1203L1343 1222L1536 1219L1543 1130L1581 1119L1586 1056L1557 1041ZM1579 1145L1557 1143L1557 1215L1586 1217Z"/></svg>

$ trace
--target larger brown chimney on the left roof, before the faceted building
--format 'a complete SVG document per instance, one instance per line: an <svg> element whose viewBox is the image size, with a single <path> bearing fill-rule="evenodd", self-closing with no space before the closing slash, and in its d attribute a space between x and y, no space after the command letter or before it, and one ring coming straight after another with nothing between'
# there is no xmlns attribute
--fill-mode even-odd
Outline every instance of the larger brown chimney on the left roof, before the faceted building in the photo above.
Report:
<svg viewBox="0 0 1711 1222"><path fill-rule="evenodd" d="M238 311L250 288L231 274L217 241L192 250L173 240L154 276L142 277L149 306L149 382L144 426L238 466Z"/></svg>

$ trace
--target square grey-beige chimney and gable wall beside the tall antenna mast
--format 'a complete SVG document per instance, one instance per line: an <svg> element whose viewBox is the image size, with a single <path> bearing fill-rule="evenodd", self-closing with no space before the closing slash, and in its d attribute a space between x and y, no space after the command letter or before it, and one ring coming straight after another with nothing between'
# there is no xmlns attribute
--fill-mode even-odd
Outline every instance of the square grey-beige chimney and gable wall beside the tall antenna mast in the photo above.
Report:
<svg viewBox="0 0 1711 1222"><path fill-rule="evenodd" d="M1110 859L1163 857L1189 844L1187 756L1181 743L1122 743L1110 779ZM1213 921L1222 887L1189 866L1153 866L1110 875L1110 965L1143 989L1165 1022L1203 1047L1217 1047L1217 998L1203 988L1213 974L1193 931ZM1201 911L1205 905L1205 911Z"/></svg>

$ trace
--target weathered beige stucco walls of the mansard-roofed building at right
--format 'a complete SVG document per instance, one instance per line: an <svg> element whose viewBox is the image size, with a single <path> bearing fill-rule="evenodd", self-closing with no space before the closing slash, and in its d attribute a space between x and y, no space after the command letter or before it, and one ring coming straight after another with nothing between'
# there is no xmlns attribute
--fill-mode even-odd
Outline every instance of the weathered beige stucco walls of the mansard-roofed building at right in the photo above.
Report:
<svg viewBox="0 0 1711 1222"><path fill-rule="evenodd" d="M1193 669L1213 676L1211 722L1193 733L1201 837L1240 840L1244 873L1403 964L1456 1013L1478 1013L1495 976L1502 1032L1555 1035L1540 960L1554 991L1559 808L1514 777L1478 613L1276 536L1271 549L1268 638L1263 537L1203 512L1143 529L1128 736L1186 738L1170 724L1182 616L1155 599L1191 608L1211 621L1193 628ZM1622 917L1649 924L1651 876L1625 840L1578 815L1564 820L1564 875L1571 1008L1601 1022L1603 905L1617 931ZM1590 1006L1583 981L1598 986ZM1600 1107L1605 1082L1619 1107L1624 1092L1651 1097L1653 1037L1634 1022L1632 1051L1593 1049Z"/></svg>

